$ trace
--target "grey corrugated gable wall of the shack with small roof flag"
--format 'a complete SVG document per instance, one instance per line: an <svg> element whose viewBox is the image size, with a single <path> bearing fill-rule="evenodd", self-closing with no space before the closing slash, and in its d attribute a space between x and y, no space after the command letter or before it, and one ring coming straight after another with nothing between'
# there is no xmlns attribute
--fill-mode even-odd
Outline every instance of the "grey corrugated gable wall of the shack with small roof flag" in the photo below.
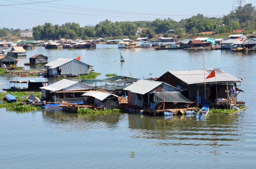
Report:
<svg viewBox="0 0 256 169"><path fill-rule="evenodd" d="M78 73L90 74L90 66L76 59L61 65L61 75L72 74L72 76L78 76Z"/></svg>

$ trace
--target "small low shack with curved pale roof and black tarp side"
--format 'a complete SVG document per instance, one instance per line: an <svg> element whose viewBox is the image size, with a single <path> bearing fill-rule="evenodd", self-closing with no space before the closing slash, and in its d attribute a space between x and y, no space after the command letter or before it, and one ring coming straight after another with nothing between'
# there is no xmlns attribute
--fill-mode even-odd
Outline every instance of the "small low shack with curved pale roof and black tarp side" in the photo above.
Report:
<svg viewBox="0 0 256 169"><path fill-rule="evenodd" d="M103 92L86 92L82 96L86 96L87 104L95 104L97 107L113 109L119 106L118 96ZM89 97L88 97L89 96Z"/></svg>

